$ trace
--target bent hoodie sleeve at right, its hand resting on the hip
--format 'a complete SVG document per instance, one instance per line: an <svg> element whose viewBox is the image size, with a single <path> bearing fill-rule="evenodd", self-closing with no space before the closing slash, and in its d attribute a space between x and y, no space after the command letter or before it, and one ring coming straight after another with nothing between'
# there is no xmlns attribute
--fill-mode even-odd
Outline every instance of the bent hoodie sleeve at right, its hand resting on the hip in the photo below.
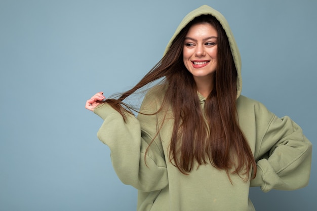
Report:
<svg viewBox="0 0 317 211"><path fill-rule="evenodd" d="M257 175L251 186L261 186L264 192L305 187L310 175L311 143L288 116L278 118L262 104L257 109Z"/></svg>

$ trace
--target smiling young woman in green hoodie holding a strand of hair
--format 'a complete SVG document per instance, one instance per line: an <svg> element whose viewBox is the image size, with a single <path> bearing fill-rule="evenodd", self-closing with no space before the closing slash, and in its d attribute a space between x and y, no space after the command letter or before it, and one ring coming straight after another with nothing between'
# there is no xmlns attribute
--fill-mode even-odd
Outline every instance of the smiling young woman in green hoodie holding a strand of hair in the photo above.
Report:
<svg viewBox="0 0 317 211"><path fill-rule="evenodd" d="M152 81L138 117L122 101ZM118 99L86 108L104 122L117 176L137 210L255 210L250 186L307 185L311 143L289 117L241 95L241 58L225 18L202 6L176 29L162 60Z"/></svg>

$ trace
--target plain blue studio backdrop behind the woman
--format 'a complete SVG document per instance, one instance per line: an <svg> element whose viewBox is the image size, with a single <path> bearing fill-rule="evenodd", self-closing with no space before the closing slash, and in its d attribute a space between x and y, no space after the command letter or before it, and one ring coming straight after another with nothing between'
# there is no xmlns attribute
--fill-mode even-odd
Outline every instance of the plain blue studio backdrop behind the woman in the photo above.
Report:
<svg viewBox="0 0 317 211"><path fill-rule="evenodd" d="M135 85L204 4L235 35L243 94L291 116L316 145L316 0L0 0L1 211L135 210L85 102ZM316 210L312 159L303 189L252 188L257 211Z"/></svg>

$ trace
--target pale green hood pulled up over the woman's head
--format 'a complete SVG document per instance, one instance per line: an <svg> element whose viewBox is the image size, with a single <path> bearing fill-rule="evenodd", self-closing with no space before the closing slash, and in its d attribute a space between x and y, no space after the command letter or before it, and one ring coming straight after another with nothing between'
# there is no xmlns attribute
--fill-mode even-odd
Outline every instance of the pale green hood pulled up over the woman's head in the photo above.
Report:
<svg viewBox="0 0 317 211"><path fill-rule="evenodd" d="M174 35L172 36L172 38L170 39L164 55L166 54L166 52L169 50L170 46L172 45L173 40L175 39L175 37L177 36L177 34L179 34L179 32L190 22L192 21L195 17L201 16L201 15L212 15L214 16L222 25L222 28L224 29L224 31L226 32L226 35L228 37L229 40L229 45L230 45L230 49L231 49L231 54L234 60L234 64L235 64L235 68L237 71L237 78L236 78L236 98L238 98L241 94L242 91L242 77L241 77L241 56L240 56L240 52L239 49L236 45L235 39L233 37L232 31L229 27L229 24L227 22L227 20L224 18L224 16L219 13L217 10L207 6L207 5L203 5L193 11L191 11L190 13L188 13L184 19L181 21L181 23L179 24L179 26L177 27Z"/></svg>

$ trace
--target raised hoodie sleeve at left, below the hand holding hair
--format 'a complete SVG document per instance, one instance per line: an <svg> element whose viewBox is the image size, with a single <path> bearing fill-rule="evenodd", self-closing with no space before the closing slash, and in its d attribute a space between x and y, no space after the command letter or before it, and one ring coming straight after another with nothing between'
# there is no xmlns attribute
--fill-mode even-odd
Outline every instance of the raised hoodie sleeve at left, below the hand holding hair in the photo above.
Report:
<svg viewBox="0 0 317 211"><path fill-rule="evenodd" d="M152 103L145 97L142 107L147 104ZM164 152L162 145L157 144L160 142L156 136L156 115L139 114L137 119L127 114L124 121L121 114L108 104L102 104L94 112L104 119L97 136L110 148L112 165L118 178L124 184L146 192L167 186ZM156 140L146 152L154 137Z"/></svg>

